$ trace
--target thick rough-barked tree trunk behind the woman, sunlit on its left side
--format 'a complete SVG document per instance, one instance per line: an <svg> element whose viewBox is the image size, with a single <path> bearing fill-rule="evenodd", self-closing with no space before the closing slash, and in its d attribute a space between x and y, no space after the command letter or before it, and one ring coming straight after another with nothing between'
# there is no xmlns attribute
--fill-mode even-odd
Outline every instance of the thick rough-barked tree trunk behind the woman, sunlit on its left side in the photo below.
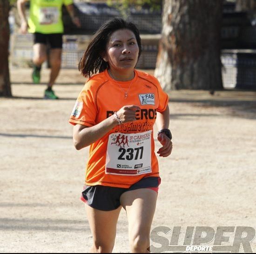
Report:
<svg viewBox="0 0 256 254"><path fill-rule="evenodd" d="M165 90L222 89L222 0L164 0L155 76Z"/></svg>

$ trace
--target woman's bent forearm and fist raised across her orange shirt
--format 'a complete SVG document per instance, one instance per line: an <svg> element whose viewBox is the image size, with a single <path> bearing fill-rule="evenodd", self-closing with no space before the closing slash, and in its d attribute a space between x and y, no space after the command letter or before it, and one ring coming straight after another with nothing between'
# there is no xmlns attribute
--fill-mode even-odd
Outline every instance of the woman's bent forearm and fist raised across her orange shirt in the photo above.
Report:
<svg viewBox="0 0 256 254"><path fill-rule="evenodd" d="M122 123L135 121L136 110L139 109L140 107L135 105L124 106L117 112L117 115ZM77 150L88 147L90 144L106 135L117 125L118 120L115 118L115 114L92 127L76 124L73 129L74 147Z"/></svg>

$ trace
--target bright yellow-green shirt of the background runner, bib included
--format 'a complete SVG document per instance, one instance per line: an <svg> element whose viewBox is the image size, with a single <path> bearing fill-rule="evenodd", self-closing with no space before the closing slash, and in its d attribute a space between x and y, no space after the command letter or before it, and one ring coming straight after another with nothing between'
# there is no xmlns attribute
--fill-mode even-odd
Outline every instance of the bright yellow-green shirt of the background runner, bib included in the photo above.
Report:
<svg viewBox="0 0 256 254"><path fill-rule="evenodd" d="M62 5L73 0L30 0L28 19L30 33L63 33Z"/></svg>

